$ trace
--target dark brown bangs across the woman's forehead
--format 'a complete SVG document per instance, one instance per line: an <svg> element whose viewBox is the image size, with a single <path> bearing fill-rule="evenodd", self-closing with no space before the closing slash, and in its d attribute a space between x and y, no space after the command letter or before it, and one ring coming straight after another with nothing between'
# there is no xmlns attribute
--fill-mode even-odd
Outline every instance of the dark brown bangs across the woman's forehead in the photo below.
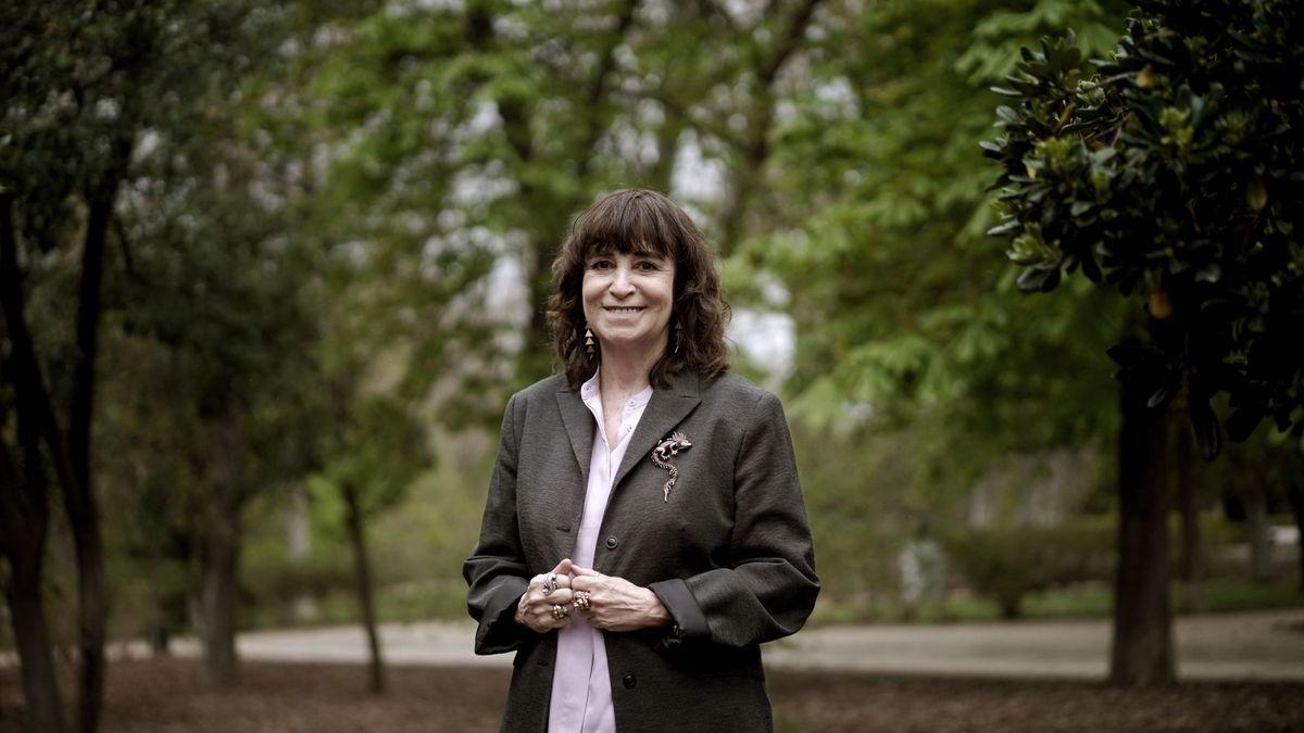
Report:
<svg viewBox="0 0 1304 733"><path fill-rule="evenodd" d="M642 194L642 196L640 196ZM574 233L580 261L595 254L653 254L675 260L682 226L645 192L619 192L584 213Z"/></svg>

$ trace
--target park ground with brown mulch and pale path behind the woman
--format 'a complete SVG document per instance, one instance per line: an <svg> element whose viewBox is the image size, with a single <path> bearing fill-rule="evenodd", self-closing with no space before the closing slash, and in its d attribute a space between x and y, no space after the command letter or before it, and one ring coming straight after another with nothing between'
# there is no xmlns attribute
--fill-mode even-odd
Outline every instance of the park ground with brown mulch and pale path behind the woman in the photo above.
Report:
<svg viewBox="0 0 1304 733"><path fill-rule="evenodd" d="M497 730L511 659L475 656L473 623L381 631L381 698L364 691L357 626L240 634L244 681L228 691L203 683L194 639L163 660L111 644L100 730ZM1304 609L1180 617L1175 636L1184 682L1155 690L1102 682L1106 620L828 626L764 650L780 733L1304 730ZM0 733L22 730L21 700L0 655Z"/></svg>

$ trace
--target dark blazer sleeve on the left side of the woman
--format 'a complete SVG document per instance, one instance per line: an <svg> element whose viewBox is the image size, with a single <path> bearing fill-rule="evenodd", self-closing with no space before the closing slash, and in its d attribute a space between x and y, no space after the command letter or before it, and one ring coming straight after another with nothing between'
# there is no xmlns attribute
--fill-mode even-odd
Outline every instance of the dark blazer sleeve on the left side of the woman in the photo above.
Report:
<svg viewBox="0 0 1304 733"><path fill-rule="evenodd" d="M469 586L467 610L480 623L475 642L477 655L514 651L531 634L515 620L516 601L529 583L516 523L516 402L518 396L507 402L502 419L498 458L489 479L480 540L462 565L462 576Z"/></svg>

